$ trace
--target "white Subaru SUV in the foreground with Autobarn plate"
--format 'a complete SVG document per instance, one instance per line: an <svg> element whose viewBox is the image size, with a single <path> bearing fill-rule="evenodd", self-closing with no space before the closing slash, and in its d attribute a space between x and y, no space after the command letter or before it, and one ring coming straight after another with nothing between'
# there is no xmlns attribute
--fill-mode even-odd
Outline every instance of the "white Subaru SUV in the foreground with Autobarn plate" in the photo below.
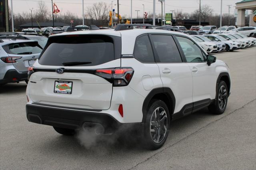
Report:
<svg viewBox="0 0 256 170"><path fill-rule="evenodd" d="M144 146L157 149L172 120L204 107L225 111L226 63L186 34L130 26L50 36L29 68L28 121L65 135L80 127L97 134L138 128Z"/></svg>

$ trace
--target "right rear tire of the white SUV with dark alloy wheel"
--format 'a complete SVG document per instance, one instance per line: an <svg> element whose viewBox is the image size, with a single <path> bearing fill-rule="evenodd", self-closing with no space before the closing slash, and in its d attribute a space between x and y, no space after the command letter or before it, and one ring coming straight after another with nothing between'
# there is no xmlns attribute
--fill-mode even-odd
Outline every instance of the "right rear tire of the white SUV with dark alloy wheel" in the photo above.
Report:
<svg viewBox="0 0 256 170"><path fill-rule="evenodd" d="M171 119L170 119L168 107L163 101L153 100L150 102L149 106L150 107L148 108L148 112L146 114L146 120L144 123L144 132L143 132L144 134L142 137L142 144L144 148L155 150L162 147L164 142L166 141L169 133ZM166 114L164 114L164 111ZM158 115L157 113L159 113L159 117L157 117ZM163 114L160 115L160 113L163 113ZM166 129L162 127L165 127ZM152 132L151 130L155 130L155 131ZM159 137L158 137L158 134L160 134ZM155 138L156 141L154 141L153 138Z"/></svg>

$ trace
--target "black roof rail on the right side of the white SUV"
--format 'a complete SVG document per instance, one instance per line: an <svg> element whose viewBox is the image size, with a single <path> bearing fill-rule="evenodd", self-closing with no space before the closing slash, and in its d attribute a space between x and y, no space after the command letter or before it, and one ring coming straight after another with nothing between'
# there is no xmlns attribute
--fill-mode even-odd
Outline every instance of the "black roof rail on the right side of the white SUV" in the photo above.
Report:
<svg viewBox="0 0 256 170"><path fill-rule="evenodd" d="M145 27L146 29L162 28L163 30L178 31L178 28L166 27L166 26L152 26L148 24L118 24L115 31L132 30L134 26Z"/></svg>

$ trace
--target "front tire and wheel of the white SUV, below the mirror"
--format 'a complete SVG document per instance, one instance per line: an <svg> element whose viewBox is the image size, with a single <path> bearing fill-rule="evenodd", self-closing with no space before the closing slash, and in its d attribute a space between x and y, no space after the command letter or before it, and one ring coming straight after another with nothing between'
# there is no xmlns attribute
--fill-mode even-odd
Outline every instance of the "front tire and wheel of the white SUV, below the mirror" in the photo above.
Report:
<svg viewBox="0 0 256 170"><path fill-rule="evenodd" d="M223 89L221 90L221 88ZM223 92L221 93L221 91ZM225 101L225 104L224 104L224 101ZM222 103L222 105L220 103ZM226 110L227 104L228 104L228 87L225 81L220 81L220 83L218 84L218 90L216 91L215 102L212 105L208 106L208 110L212 114L220 115L224 113L224 111Z"/></svg>

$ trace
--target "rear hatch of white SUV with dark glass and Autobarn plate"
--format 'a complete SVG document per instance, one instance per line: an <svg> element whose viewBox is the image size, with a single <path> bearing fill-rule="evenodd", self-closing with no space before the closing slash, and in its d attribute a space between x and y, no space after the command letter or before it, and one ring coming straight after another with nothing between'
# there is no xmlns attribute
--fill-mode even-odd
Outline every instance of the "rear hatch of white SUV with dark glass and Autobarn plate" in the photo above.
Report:
<svg viewBox="0 0 256 170"><path fill-rule="evenodd" d="M112 83L101 74L120 67L120 42L120 37L105 35L50 37L29 79L30 99L62 107L108 109Z"/></svg>

